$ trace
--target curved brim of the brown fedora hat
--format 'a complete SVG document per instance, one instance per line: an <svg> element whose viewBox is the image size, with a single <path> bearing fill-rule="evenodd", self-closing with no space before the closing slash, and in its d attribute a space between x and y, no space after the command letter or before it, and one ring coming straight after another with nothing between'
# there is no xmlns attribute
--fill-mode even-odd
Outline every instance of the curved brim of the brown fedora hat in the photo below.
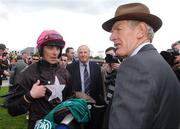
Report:
<svg viewBox="0 0 180 129"><path fill-rule="evenodd" d="M120 20L143 21L143 22L147 23L148 25L150 25L153 28L154 32L159 30L161 28L161 26L162 26L161 19L159 17L155 16L155 15L147 14L147 13L129 13L129 14L114 17L114 18L104 22L102 24L102 28L105 31L110 32L111 29L112 29L112 26L114 25L114 23L116 21L120 21Z"/></svg>

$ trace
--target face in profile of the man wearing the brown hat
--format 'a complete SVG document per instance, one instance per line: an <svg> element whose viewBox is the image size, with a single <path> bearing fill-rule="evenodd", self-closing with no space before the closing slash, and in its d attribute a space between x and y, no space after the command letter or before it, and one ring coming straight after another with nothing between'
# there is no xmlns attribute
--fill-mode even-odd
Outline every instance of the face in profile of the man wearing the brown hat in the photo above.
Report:
<svg viewBox="0 0 180 129"><path fill-rule="evenodd" d="M137 47L138 29L130 27L128 21L117 21L111 30L110 40L114 42L116 55L120 57L130 56Z"/></svg>

